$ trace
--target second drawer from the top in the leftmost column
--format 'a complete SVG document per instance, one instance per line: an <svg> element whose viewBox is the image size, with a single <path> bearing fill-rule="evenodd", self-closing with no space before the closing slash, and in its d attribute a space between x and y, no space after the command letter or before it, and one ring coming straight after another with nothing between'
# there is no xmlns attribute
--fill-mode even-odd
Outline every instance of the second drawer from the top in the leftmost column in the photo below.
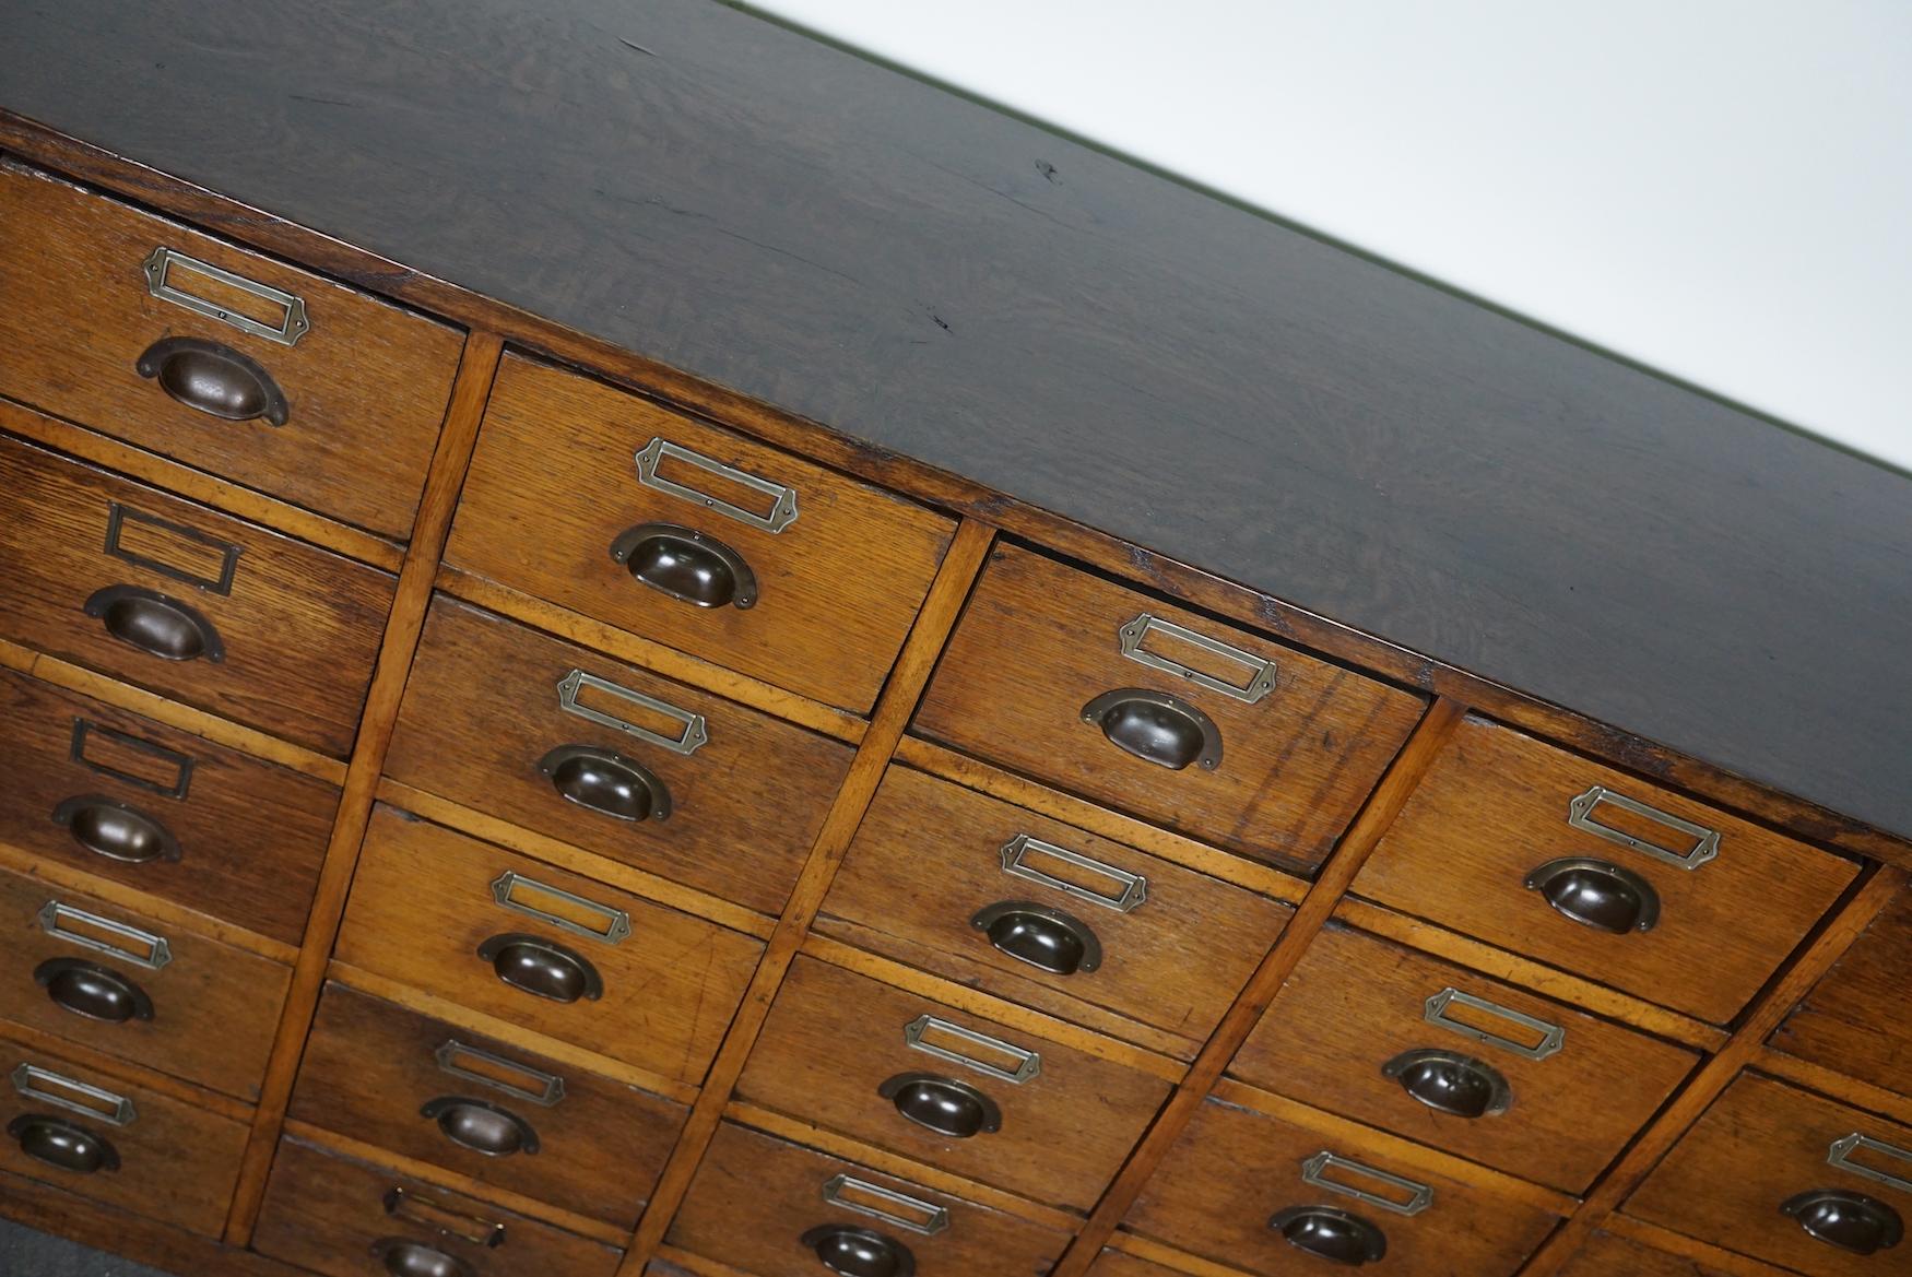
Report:
<svg viewBox="0 0 1912 1277"><path fill-rule="evenodd" d="M0 637L352 749L390 574L4 436L0 484Z"/></svg>

